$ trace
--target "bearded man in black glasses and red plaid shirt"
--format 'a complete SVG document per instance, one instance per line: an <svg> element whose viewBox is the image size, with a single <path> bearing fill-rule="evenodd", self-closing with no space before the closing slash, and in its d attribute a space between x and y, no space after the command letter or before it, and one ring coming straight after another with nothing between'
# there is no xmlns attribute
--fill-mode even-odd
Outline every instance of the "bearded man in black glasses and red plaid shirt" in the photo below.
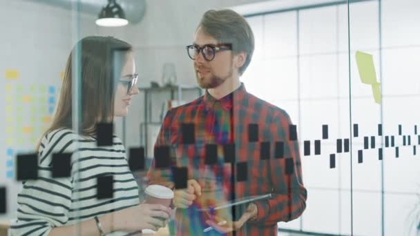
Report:
<svg viewBox="0 0 420 236"><path fill-rule="evenodd" d="M176 235L277 235L277 222L303 213L307 193L289 116L240 83L254 52L253 32L232 10L209 10L187 52L206 93L170 110L155 144L170 147L166 167L188 168L187 188L174 189ZM174 188L171 168L157 168L161 153L155 153L150 183ZM270 199L242 211L203 211L267 193Z"/></svg>

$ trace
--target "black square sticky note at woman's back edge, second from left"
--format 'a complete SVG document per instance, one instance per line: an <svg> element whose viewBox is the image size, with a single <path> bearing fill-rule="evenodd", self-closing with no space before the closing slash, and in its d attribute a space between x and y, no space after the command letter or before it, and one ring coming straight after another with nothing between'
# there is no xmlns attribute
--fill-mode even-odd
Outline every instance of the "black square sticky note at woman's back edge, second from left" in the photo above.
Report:
<svg viewBox="0 0 420 236"><path fill-rule="evenodd" d="M16 178L18 181L38 179L38 155L26 154L17 155L15 161L17 166Z"/></svg>

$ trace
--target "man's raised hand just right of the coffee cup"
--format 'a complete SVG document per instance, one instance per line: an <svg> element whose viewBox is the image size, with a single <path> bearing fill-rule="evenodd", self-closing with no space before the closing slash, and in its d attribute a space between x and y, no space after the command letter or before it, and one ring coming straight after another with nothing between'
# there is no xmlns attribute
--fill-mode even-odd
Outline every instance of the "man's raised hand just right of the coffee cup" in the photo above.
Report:
<svg viewBox="0 0 420 236"><path fill-rule="evenodd" d="M173 206L188 208L197 197L201 196L201 186L195 179L187 181L187 188L174 191Z"/></svg>

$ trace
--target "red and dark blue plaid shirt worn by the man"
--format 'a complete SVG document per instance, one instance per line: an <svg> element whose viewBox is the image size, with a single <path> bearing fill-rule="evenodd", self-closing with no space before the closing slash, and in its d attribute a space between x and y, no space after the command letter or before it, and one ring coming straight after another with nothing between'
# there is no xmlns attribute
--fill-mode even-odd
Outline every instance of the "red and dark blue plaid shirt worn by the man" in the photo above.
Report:
<svg viewBox="0 0 420 236"><path fill-rule="evenodd" d="M193 144L182 143L183 135L187 135L182 132L182 124L195 127ZM249 139L249 124L258 125L258 132L254 132L258 141ZM287 112L249 94L243 83L222 99L217 100L206 91L195 101L171 109L155 147L170 146L171 165L187 166L188 179L195 179L202 186L202 197L195 199L189 208L176 210L176 235L220 235L216 230L203 233L208 227L205 223L208 215L197 209L223 204L232 198L267 193L273 196L255 201L257 218L245 223L234 235L277 235L277 222L299 217L305 210L307 192L302 181L297 137L289 139L291 124ZM241 177L245 181L236 179L242 171L239 166L236 175L231 175L231 164L225 163L223 144L232 143L236 164L247 164L246 176ZM206 144L217 145L216 164L204 164ZM276 150L277 144L283 144L281 152ZM262 146L268 154L261 151ZM269 156L262 159L262 155ZM153 159L147 173L150 184L169 186L173 183L171 169L155 168L155 162ZM289 168L288 174L286 168Z"/></svg>

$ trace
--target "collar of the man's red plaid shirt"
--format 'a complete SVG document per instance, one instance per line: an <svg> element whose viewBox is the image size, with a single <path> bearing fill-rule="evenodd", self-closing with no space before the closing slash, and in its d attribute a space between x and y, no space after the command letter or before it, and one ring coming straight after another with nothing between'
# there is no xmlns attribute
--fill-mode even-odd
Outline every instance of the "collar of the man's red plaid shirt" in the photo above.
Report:
<svg viewBox="0 0 420 236"><path fill-rule="evenodd" d="M229 95L222 97L221 99L214 98L210 95L209 91L206 90L206 94L204 95L204 104L207 110L215 109L218 107L222 107L224 110L230 110L233 106L233 102L237 103L238 101L241 101L246 93L247 90L245 89L244 83L240 83L239 88L229 93Z"/></svg>

